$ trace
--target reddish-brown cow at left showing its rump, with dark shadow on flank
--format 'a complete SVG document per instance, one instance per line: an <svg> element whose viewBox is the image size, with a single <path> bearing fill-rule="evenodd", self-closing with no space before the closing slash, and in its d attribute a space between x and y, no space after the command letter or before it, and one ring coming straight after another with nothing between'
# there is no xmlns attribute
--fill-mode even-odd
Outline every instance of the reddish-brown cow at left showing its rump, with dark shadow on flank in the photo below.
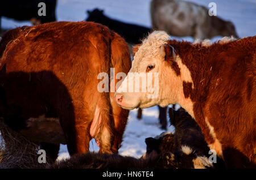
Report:
<svg viewBox="0 0 256 180"><path fill-rule="evenodd" d="M25 28L2 54L0 116L37 142L67 143L71 155L88 151L92 138L101 152L117 153L129 111L114 103L114 92L97 89L98 74L109 75L111 67L127 73L130 53L125 40L103 25ZM65 142L55 136L58 123Z"/></svg>

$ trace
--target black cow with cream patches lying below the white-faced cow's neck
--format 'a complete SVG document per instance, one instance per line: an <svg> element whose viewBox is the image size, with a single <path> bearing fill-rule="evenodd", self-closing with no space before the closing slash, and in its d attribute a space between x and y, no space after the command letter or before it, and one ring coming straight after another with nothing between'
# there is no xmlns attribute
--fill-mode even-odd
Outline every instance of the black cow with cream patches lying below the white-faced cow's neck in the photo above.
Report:
<svg viewBox="0 0 256 180"><path fill-rule="evenodd" d="M209 157L214 152L209 152L208 144L204 140L201 128L183 108L177 111L169 109L170 123L175 127L174 134L163 132L155 138L146 138L147 152L143 159L157 157L164 152L171 152L172 157L185 168L225 168L224 161L217 157L216 162L210 162ZM213 161L214 159L210 157Z"/></svg>

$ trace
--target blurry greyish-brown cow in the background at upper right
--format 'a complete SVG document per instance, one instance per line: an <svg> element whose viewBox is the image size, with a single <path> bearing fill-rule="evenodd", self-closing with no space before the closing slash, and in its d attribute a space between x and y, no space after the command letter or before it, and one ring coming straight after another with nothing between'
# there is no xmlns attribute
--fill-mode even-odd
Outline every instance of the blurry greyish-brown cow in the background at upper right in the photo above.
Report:
<svg viewBox="0 0 256 180"><path fill-rule="evenodd" d="M172 36L192 36L195 39L214 36L237 37L234 24L218 16L209 16L208 9L193 2L177 0L151 1L152 29Z"/></svg>

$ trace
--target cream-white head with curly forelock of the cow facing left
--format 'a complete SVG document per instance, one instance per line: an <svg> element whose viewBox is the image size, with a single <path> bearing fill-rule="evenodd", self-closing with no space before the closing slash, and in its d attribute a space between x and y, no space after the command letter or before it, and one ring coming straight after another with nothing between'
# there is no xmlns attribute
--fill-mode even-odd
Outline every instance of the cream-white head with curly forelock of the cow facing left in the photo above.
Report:
<svg viewBox="0 0 256 180"><path fill-rule="evenodd" d="M168 38L166 32L155 31L141 45L135 46L131 69L115 93L119 106L134 109L177 102L173 92L181 84L177 72L171 68L176 63L176 54L175 48L167 44ZM139 84L139 91L136 91L136 84Z"/></svg>

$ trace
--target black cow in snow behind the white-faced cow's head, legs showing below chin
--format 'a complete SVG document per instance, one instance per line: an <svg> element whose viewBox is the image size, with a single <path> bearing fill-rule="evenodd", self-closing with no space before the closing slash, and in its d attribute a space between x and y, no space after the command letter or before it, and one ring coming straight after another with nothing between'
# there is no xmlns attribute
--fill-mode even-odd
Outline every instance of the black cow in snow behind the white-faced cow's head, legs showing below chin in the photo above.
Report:
<svg viewBox="0 0 256 180"><path fill-rule="evenodd" d="M141 25L130 24L130 23L123 23L119 20L111 19L108 16L104 15L103 10L99 10L95 8L92 11L87 11L88 18L86 19L87 22L96 22L106 25L114 32L117 32L121 35L127 42L130 44L139 44L143 40L144 37L151 32L151 28L143 27ZM167 107L160 107L159 108L159 121L161 124L161 128L166 130L167 128ZM138 119L142 118L142 109L138 109Z"/></svg>

